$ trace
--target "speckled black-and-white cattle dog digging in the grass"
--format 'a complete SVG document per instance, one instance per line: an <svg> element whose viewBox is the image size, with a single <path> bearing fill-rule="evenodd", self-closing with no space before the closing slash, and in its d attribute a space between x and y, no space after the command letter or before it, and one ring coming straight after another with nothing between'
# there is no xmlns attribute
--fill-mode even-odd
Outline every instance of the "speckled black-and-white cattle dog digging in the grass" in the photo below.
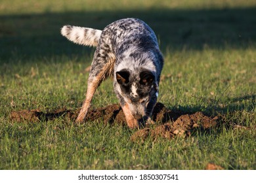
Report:
<svg viewBox="0 0 256 183"><path fill-rule="evenodd" d="M86 98L76 122L83 122L96 88L108 76L114 76L114 92L128 127L152 122L150 115L158 99L163 56L154 31L145 22L125 18L102 31L64 25L61 34L77 44L96 46Z"/></svg>

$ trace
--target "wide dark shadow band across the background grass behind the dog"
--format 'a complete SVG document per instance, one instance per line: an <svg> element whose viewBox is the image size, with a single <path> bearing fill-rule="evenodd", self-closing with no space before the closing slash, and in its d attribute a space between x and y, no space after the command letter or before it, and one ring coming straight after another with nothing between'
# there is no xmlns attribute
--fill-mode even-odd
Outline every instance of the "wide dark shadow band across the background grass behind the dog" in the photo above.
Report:
<svg viewBox="0 0 256 183"><path fill-rule="evenodd" d="M256 42L256 7L205 10L150 9L64 12L0 16L0 59L83 56L93 50L67 41L62 25L103 29L115 20L135 17L154 29L163 53L172 50L247 48ZM38 59L40 60L40 59Z"/></svg>

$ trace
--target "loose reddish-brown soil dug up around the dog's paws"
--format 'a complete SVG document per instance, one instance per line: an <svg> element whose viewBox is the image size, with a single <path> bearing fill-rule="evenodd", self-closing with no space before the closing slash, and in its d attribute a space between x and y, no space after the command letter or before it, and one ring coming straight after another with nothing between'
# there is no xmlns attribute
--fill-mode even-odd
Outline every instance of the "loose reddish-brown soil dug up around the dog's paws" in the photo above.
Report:
<svg viewBox="0 0 256 183"><path fill-rule="evenodd" d="M35 110L13 111L10 119L14 122L39 122L41 120L53 120L54 118L66 117L73 121L79 110L68 110L60 108L57 110L42 112ZM89 110L85 122L101 119L106 124L125 125L125 116L119 105L108 105L107 107ZM203 128L210 129L218 123L218 117L211 118L202 112L185 114L182 111L172 111L167 109L162 103L157 103L152 112L152 120L156 125L139 129L131 136L133 142L144 142L148 137L156 140L158 138L172 139L175 136L188 137L192 130Z"/></svg>

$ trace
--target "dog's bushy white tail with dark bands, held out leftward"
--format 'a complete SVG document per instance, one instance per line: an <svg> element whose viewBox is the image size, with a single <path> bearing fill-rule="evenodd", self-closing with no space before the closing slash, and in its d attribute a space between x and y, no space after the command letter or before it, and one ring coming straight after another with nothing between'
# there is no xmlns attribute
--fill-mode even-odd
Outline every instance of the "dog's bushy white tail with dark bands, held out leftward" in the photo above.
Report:
<svg viewBox="0 0 256 183"><path fill-rule="evenodd" d="M64 25L61 34L68 40L85 46L97 46L102 31L87 27Z"/></svg>

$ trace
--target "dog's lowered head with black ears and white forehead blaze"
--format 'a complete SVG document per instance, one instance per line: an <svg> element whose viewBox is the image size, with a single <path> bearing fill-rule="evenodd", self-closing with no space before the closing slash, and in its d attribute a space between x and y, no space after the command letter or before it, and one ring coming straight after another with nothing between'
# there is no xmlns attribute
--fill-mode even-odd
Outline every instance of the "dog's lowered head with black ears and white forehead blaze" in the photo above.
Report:
<svg viewBox="0 0 256 183"><path fill-rule="evenodd" d="M116 72L116 81L119 85L119 94L129 105L133 116L137 120L146 119L149 115L146 111L148 103L158 97L156 74L148 69L122 69Z"/></svg>

